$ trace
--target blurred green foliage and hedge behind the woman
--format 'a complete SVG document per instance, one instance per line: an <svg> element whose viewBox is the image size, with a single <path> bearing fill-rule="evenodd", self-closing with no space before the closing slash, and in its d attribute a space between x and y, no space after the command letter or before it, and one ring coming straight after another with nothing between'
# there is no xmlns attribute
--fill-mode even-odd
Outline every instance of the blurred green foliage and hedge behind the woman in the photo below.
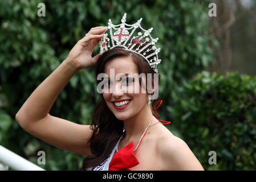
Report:
<svg viewBox="0 0 256 182"><path fill-rule="evenodd" d="M38 3L46 5L46 16L38 16ZM18 125L15 114L86 32L107 26L108 19L119 24L127 13L128 24L143 18L141 26L153 27L153 38L159 38L164 102L157 111L171 121L166 127L188 144L205 170L255 170L256 78L216 68L216 50L223 44L213 30L221 22L208 16L209 3L0 1L0 144L35 164L37 152L45 151L46 164L39 166L47 170L82 166L85 156L33 137ZM92 56L97 52L99 47ZM50 114L90 125L98 98L94 67L84 69L71 78ZM208 163L209 151L217 152L217 164Z"/></svg>

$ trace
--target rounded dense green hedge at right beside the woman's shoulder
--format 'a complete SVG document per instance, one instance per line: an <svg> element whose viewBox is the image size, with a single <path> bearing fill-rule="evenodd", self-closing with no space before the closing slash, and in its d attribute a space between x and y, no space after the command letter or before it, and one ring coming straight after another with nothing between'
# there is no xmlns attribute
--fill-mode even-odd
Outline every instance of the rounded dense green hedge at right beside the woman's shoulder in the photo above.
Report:
<svg viewBox="0 0 256 182"><path fill-rule="evenodd" d="M170 110L173 128L205 169L256 169L256 77L204 71ZM208 163L209 151L217 152L216 165Z"/></svg>

